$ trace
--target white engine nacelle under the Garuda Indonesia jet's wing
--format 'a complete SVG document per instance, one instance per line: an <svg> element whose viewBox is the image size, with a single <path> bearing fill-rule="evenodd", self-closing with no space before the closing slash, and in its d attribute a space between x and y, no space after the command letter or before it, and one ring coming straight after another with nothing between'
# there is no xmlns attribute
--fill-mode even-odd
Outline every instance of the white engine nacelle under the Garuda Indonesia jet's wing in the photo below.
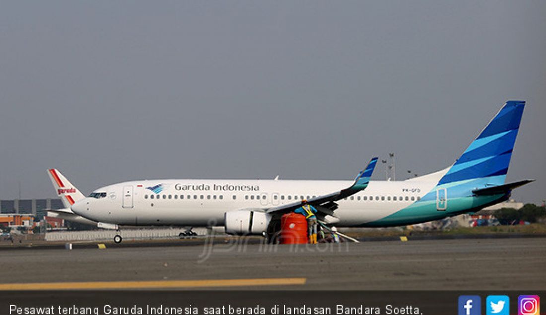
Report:
<svg viewBox="0 0 546 315"><path fill-rule="evenodd" d="M260 211L230 211L224 213L227 234L262 235L268 228L269 215Z"/></svg>

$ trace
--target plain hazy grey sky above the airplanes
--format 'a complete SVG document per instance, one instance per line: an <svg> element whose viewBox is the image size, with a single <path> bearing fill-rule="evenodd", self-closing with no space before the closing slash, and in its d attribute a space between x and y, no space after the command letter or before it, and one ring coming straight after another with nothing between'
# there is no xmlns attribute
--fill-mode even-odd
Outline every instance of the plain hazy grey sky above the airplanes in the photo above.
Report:
<svg viewBox="0 0 546 315"><path fill-rule="evenodd" d="M2 2L0 198L143 178L397 178L526 100L508 180L546 198L546 2ZM384 179L378 165L375 179Z"/></svg>

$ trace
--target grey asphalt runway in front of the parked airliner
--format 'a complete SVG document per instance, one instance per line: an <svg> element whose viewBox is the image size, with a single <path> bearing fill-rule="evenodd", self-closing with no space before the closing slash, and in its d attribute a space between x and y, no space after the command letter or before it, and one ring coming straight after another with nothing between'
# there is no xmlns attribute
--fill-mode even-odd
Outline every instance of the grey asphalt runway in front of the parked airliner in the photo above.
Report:
<svg viewBox="0 0 546 315"><path fill-rule="evenodd" d="M3 250L5 285L155 283L153 288L545 290L546 238L264 246ZM292 279L287 283L271 279ZM264 280L265 279L265 280ZM267 283L267 279L272 281ZM183 281L201 285L187 286ZM205 282L202 282L205 281ZM246 281L246 282L245 282ZM167 283L171 283L170 286ZM175 283L175 284L172 284ZM180 283L180 285L176 285ZM30 287L28 287L30 285ZM46 286L47 288L47 286ZM69 288L69 287L68 287ZM115 288L115 287L114 287ZM39 288L35 288L39 289ZM65 287L64 289L67 289Z"/></svg>

